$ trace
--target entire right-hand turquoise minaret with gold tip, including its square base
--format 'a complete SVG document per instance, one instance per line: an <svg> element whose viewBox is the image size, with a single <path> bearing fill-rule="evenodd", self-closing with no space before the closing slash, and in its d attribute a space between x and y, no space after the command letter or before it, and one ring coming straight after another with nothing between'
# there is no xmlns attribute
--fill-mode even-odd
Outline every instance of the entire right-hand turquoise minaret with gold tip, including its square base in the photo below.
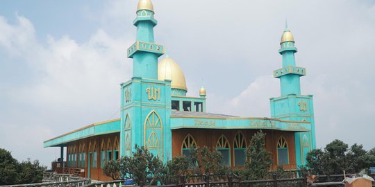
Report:
<svg viewBox="0 0 375 187"><path fill-rule="evenodd" d="M310 124L310 129L294 133L297 166L306 165L306 154L315 149L315 120L313 96L301 95L299 78L306 75L306 69L296 66L294 37L287 26L280 42L278 53L283 55L283 67L274 71L274 78L280 79L281 96L271 98L271 117L282 121L300 121Z"/></svg>

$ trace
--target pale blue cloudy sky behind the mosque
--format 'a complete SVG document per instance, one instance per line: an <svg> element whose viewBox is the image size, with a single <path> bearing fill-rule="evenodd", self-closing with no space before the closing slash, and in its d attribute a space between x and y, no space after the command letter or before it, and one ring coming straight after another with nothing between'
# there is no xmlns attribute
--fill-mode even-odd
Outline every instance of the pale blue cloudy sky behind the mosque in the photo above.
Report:
<svg viewBox="0 0 375 187"><path fill-rule="evenodd" d="M119 117L119 84L132 77L137 1L0 1L0 148L50 166L43 141ZM285 19L301 93L314 96L317 147L373 141L375 1L153 0L156 43L181 66L188 96L207 111L269 117L280 96L272 71ZM163 57L160 57L163 59Z"/></svg>

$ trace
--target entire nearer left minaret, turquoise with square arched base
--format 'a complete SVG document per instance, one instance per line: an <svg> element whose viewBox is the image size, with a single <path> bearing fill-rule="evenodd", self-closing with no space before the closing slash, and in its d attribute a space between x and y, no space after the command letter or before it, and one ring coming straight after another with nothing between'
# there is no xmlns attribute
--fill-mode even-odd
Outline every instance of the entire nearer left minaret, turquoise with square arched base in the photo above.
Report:
<svg viewBox="0 0 375 187"><path fill-rule="evenodd" d="M163 45L155 44L151 0L139 0L137 40L127 50L133 58L133 78L121 84L120 154L130 156L135 145L144 146L163 161L172 159L171 80L158 80L158 57Z"/></svg>

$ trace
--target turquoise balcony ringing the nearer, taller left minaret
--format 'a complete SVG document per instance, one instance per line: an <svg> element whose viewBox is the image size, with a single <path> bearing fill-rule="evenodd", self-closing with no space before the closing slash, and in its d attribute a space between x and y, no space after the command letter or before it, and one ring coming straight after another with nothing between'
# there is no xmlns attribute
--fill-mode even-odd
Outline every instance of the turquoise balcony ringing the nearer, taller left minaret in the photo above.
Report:
<svg viewBox="0 0 375 187"><path fill-rule="evenodd" d="M160 45L160 44L137 41L128 48L127 50L128 57L133 58L133 55L137 53L138 51L155 53L158 55L158 57L160 57L161 55L165 53L165 47L164 45Z"/></svg>

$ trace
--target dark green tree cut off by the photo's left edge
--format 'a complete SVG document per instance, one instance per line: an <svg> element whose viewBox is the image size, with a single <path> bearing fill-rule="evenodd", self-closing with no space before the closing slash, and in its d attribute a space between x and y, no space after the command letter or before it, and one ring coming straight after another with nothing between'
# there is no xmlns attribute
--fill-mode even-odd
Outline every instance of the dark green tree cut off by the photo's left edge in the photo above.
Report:
<svg viewBox="0 0 375 187"><path fill-rule="evenodd" d="M15 184L18 162L7 150L0 148L0 185Z"/></svg>

